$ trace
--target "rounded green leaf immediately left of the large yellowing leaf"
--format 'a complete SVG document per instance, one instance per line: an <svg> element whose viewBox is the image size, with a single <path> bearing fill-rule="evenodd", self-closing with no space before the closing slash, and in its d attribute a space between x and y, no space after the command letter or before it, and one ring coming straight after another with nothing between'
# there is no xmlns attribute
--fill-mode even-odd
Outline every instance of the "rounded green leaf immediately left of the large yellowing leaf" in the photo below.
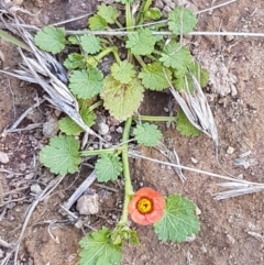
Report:
<svg viewBox="0 0 264 265"><path fill-rule="evenodd" d="M89 99L102 90L103 75L98 68L74 70L69 76L69 89L80 99Z"/></svg>

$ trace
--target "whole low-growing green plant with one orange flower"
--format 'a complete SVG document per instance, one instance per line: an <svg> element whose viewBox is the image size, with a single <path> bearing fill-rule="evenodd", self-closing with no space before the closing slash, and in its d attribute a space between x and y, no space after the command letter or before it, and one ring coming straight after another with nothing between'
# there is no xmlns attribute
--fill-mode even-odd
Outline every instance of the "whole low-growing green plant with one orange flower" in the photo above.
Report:
<svg viewBox="0 0 264 265"><path fill-rule="evenodd" d="M125 242L139 244L136 231L129 227L129 216L141 225L154 225L162 242L184 242L199 231L199 220L194 202L180 195L162 196L143 187L134 192L129 169L130 135L141 145L155 146L162 133L152 121L176 122L184 135L198 135L184 111L177 117L145 117L136 113L146 89L163 91L173 84L176 89L194 89L190 73L205 87L208 74L193 58L180 42L183 34L194 30L196 16L185 8L176 8L166 21L160 21L161 10L152 8L152 0L116 0L124 5L124 12L114 5L98 5L88 20L89 30L66 34L63 27L45 26L35 35L35 44L53 54L66 45L76 47L64 66L69 70L68 88L79 103L79 112L88 126L95 124L95 109L102 106L110 115L124 121L121 144L117 147L80 151L75 135L84 130L69 118L59 120L61 134L51 139L40 154L41 162L54 174L75 173L82 157L98 156L95 164L99 183L124 179L123 211L111 231L102 228L88 233L80 242L80 265L120 264ZM135 8L135 3L141 4ZM122 21L124 25L122 25ZM155 22L156 21L156 22ZM165 36L164 31L170 35ZM154 34L155 33L155 34ZM125 55L125 58L123 57ZM100 65L105 57L112 59L109 73ZM157 102L154 102L157 103ZM143 121L143 123L141 123ZM135 123L132 129L132 122Z"/></svg>

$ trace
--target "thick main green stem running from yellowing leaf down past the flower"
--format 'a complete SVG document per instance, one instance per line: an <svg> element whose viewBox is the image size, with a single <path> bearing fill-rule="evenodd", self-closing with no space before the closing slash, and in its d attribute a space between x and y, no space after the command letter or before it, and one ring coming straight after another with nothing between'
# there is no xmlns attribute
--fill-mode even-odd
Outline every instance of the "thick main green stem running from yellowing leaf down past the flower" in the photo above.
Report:
<svg viewBox="0 0 264 265"><path fill-rule="evenodd" d="M127 142L130 136L130 128L132 123L132 118L129 118L124 123L122 142ZM127 224L129 218L129 202L131 200L131 196L133 196L133 186L130 177L129 169L129 156L128 156L129 145L124 144L122 150L122 163L123 163L123 177L124 177L124 201L123 201L123 210L122 216L119 221L119 224Z"/></svg>

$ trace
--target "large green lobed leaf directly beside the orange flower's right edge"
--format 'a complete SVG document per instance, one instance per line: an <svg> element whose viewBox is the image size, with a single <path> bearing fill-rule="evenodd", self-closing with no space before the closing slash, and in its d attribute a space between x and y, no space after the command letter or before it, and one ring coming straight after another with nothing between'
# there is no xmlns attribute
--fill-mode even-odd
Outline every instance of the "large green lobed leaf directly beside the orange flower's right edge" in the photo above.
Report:
<svg viewBox="0 0 264 265"><path fill-rule="evenodd" d="M200 230L199 219L195 214L196 205L180 195L166 198L166 208L162 220L154 224L155 233L162 242L184 242Z"/></svg>

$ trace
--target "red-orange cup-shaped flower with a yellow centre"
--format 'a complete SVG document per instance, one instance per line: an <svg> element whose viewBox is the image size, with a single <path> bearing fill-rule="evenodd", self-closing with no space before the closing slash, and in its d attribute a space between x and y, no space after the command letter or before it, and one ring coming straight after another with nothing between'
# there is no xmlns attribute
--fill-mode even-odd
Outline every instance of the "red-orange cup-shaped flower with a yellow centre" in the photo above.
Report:
<svg viewBox="0 0 264 265"><path fill-rule="evenodd" d="M164 197L154 189L141 188L129 203L131 219L139 224L148 225L163 217Z"/></svg>

